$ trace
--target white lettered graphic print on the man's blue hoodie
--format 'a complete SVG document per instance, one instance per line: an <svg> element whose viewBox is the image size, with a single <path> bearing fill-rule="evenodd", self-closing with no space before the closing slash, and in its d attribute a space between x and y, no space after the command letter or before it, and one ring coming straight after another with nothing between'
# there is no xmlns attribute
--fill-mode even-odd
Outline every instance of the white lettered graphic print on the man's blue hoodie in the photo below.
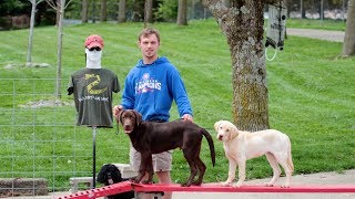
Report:
<svg viewBox="0 0 355 199"><path fill-rule="evenodd" d="M141 80L135 83L135 93L142 94L154 92L154 90L161 90L161 82L151 77L149 73L144 73Z"/></svg>

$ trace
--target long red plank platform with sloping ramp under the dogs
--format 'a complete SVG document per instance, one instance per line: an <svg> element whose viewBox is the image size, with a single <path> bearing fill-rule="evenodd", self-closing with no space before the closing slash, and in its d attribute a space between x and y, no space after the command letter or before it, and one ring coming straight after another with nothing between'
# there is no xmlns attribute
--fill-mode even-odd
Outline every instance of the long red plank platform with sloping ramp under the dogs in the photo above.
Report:
<svg viewBox="0 0 355 199"><path fill-rule="evenodd" d="M290 188L243 186L241 188L235 188L235 187L222 187L219 184L203 184L202 186L181 187L181 185L178 185L178 184L143 185L143 184L133 184L131 181L123 181L123 182L114 184L111 186L79 191L68 196L57 197L57 199L92 199L92 198L105 197L105 196L116 195L120 192L126 192L132 190L134 192L154 193L155 198L162 198L164 191L166 192L183 191L183 192L290 192L290 193L291 192L310 192L310 193L334 192L334 193L342 193L342 192L355 192L355 185L292 186Z"/></svg>

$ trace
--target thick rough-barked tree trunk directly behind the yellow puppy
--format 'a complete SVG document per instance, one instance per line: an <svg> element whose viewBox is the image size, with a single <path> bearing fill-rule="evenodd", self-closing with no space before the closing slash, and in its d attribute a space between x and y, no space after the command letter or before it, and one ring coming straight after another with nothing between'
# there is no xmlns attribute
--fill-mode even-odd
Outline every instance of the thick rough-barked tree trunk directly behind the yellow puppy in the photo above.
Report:
<svg viewBox="0 0 355 199"><path fill-rule="evenodd" d="M266 3L278 0L204 0L226 36L232 57L233 122L242 130L268 128L268 100L264 51Z"/></svg>

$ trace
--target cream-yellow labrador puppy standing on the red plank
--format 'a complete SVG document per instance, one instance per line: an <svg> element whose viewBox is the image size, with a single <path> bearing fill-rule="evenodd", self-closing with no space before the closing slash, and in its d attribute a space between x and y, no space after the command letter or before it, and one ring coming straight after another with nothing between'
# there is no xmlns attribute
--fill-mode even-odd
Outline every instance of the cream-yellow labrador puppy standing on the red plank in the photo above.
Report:
<svg viewBox="0 0 355 199"><path fill-rule="evenodd" d="M278 164L286 174L286 182L282 187L290 187L293 172L291 156L291 142L287 135L266 129L260 132L242 132L229 121L219 121L214 124L217 139L223 142L225 156L229 158L229 178L223 186L232 186L235 178L235 169L239 166L239 181L233 187L241 187L245 180L245 165L247 159L266 155L270 166L273 168L273 178L265 186L272 187L281 175Z"/></svg>

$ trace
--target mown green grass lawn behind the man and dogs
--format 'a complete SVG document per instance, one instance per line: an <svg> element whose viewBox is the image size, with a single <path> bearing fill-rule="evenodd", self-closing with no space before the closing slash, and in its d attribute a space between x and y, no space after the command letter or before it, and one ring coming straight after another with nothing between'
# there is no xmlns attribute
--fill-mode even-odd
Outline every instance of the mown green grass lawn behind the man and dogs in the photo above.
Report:
<svg viewBox="0 0 355 199"><path fill-rule="evenodd" d="M302 27L293 20L287 27L294 28L293 24ZM339 30L342 24L336 24ZM73 101L67 95L67 83L71 73L84 66L83 43L89 34L103 36L102 65L114 71L123 84L141 56L135 41L142 27L142 23L65 27L62 101ZM184 78L195 123L215 137L213 124L232 119L231 57L224 35L214 20L191 21L187 27L173 23L154 27L161 31L160 55L168 56ZM31 101L53 98L55 83L52 80L3 80L55 78L57 29L34 30L33 62L49 63L51 66L45 69L21 66L26 62L28 30L2 31L0 38L0 177L45 177L54 189L65 189L69 177L90 175L92 129L74 125L73 106L19 107ZM295 174L355 168L355 59L338 59L342 43L292 35L284 49L274 61L266 62L270 125L291 137ZM6 69L8 64L16 66ZM113 104L120 100L121 93L115 94ZM171 115L171 119L178 118L175 107ZM128 136L122 132L116 135L115 130L98 130L97 170L105 163L129 163ZM223 181L227 177L222 144L214 140L215 167L212 167L207 144L203 143L202 158L207 165L205 182ZM173 180L183 181L187 169L182 153L175 150ZM271 175L265 158L247 161L247 178Z"/></svg>

